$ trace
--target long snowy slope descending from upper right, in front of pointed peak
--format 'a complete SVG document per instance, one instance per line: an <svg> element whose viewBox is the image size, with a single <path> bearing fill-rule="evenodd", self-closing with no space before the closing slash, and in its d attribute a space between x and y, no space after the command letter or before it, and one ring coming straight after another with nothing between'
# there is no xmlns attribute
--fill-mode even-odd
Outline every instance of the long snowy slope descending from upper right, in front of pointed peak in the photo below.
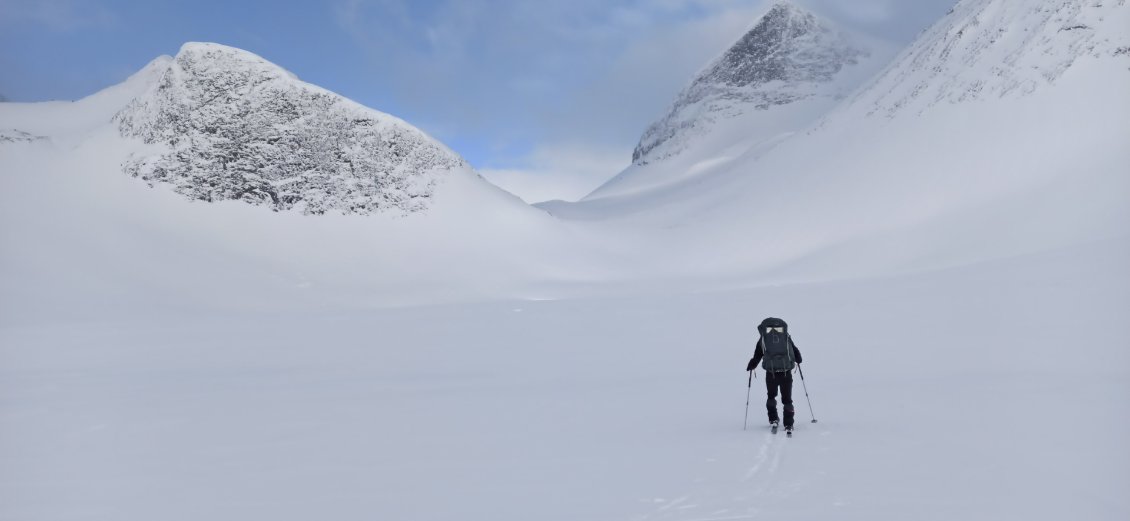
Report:
<svg viewBox="0 0 1130 521"><path fill-rule="evenodd" d="M1128 26L1125 2L963 1L860 93L768 151L646 192L542 208L650 229L678 245L662 255L671 272L763 280L1124 237Z"/></svg>

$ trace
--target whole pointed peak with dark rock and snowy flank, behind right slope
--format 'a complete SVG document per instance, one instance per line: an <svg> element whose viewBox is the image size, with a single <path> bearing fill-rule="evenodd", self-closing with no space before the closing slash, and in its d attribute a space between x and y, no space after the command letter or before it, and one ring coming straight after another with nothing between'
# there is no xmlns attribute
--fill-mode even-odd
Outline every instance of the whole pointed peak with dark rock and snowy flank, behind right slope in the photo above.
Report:
<svg viewBox="0 0 1130 521"><path fill-rule="evenodd" d="M809 125L889 58L884 45L781 1L647 127L632 166L588 198L671 182L720 157L771 146Z"/></svg>

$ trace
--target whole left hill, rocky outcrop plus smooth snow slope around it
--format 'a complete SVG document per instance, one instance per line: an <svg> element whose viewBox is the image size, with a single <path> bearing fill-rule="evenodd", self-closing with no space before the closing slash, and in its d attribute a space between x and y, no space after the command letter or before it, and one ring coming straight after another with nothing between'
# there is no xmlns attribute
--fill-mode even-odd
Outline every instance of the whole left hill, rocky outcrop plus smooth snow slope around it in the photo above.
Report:
<svg viewBox="0 0 1130 521"><path fill-rule="evenodd" d="M8 321L450 302L605 271L419 130L231 47L5 103L0 128Z"/></svg>

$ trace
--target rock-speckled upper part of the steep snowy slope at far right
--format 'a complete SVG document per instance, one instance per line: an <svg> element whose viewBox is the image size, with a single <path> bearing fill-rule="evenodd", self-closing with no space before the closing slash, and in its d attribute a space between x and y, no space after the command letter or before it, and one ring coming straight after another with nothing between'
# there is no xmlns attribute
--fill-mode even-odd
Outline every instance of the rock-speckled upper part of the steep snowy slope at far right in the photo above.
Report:
<svg viewBox="0 0 1130 521"><path fill-rule="evenodd" d="M867 115L921 114L941 103L1029 95L1084 57L1130 68L1125 8L1125 0L962 0L853 104Z"/></svg>

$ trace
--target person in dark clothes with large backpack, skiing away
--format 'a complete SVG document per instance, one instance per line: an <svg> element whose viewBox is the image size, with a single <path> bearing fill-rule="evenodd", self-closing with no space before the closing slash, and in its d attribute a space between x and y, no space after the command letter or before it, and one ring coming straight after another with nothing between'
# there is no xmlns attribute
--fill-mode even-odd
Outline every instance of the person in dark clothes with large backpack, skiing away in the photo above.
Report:
<svg viewBox="0 0 1130 521"><path fill-rule="evenodd" d="M757 370L757 363L765 370L765 390L768 398L765 400L765 409L770 415L770 425L776 432L780 417L776 410L777 391L781 392L781 402L784 405L784 428L792 434L793 418L796 409L792 407L792 370L800 364L800 349L793 344L789 336L789 324L781 319L768 318L757 327L760 338L757 340L757 348L754 357L746 365L746 371ZM751 374L753 375L753 374Z"/></svg>

